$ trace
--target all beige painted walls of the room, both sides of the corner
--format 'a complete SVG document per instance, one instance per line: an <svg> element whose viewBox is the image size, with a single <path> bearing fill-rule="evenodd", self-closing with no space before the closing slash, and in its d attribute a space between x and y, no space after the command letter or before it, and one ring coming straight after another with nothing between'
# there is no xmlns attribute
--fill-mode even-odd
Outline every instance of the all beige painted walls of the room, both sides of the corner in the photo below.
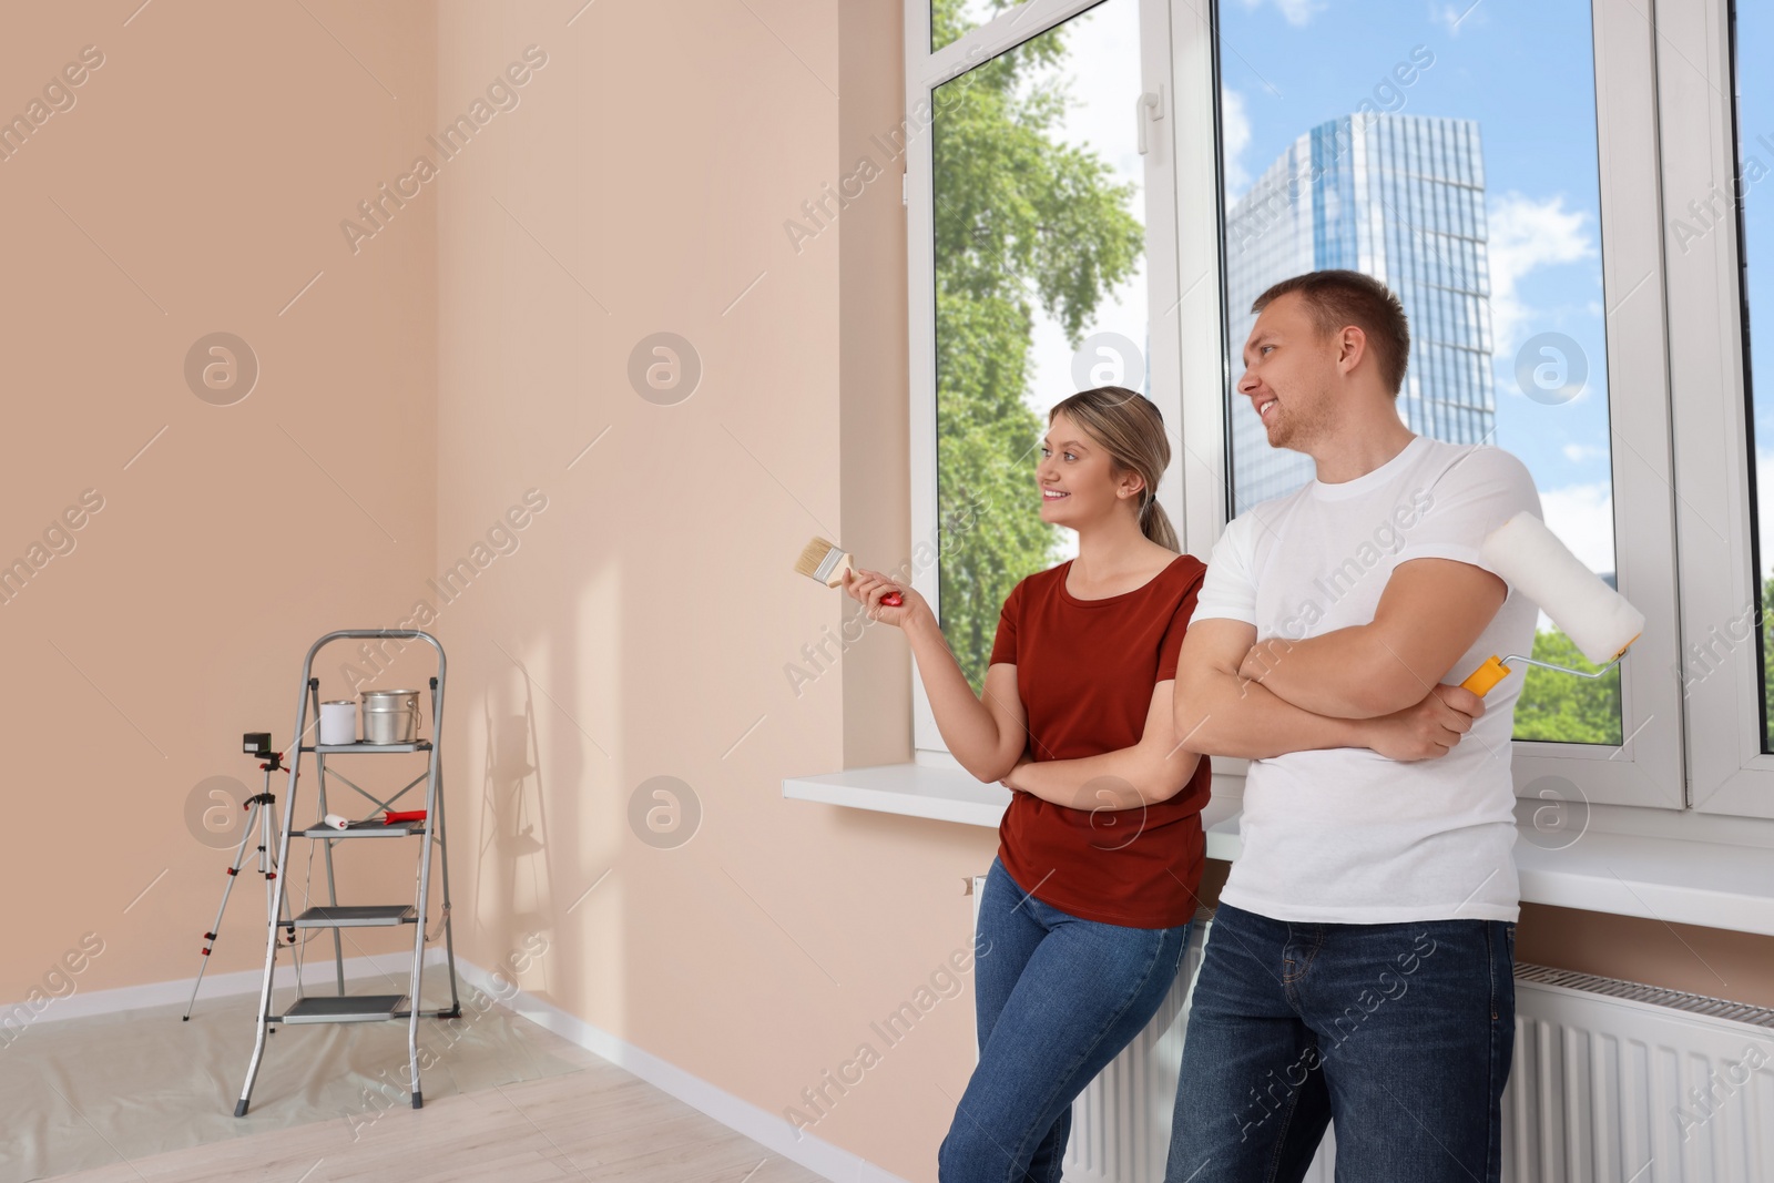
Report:
<svg viewBox="0 0 1774 1183"><path fill-rule="evenodd" d="M433 624L458 947L493 967L545 935L523 986L782 1112L880 1050L871 1023L963 945L962 880L995 844L781 796L910 754L898 635L869 630L798 693L784 676L844 619L789 573L802 544L841 537L871 566L912 546L905 223L867 138L901 112L896 5L307 7L153 4L124 27L135 0L39 5L0 41L0 110L105 53L0 163L0 555L82 490L105 498L0 607L30 674L4 690L0 997L87 931L105 952L82 990L195 972L227 853L190 835L192 789L257 787L236 738L287 740L307 644L438 607L426 580L534 490L545 507ZM516 106L353 254L339 222L530 44L546 64ZM784 220L859 154L885 179L797 250ZM181 376L215 330L261 360L236 406ZM672 406L628 380L656 332L703 365ZM319 672L323 697L349 692L337 662ZM699 802L679 846L630 819L660 775ZM357 897L406 883L346 878ZM213 968L263 960L255 908L254 878ZM1774 1000L1763 938L1527 908L1519 951ZM970 1025L970 990L942 1000L814 1132L931 1179Z"/></svg>

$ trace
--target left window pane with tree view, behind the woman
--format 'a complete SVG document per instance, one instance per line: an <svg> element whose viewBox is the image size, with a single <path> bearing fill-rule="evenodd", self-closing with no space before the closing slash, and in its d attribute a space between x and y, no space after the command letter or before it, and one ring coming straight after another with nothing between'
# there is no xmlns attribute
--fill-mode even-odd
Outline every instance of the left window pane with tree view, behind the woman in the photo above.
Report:
<svg viewBox="0 0 1774 1183"><path fill-rule="evenodd" d="M1075 536L1040 516L1034 465L1048 410L1091 385L1151 390L1148 225L1174 218L1158 85L1148 101L1141 74L1142 23L1162 7L1043 7L993 16L935 0L931 44L949 51L919 74L928 172L917 179L928 186L908 186L908 200L914 241L931 255L914 275L912 323L928 326L935 447L933 514L921 523L942 553L926 596L976 692L1004 598L1075 553ZM1160 289L1173 286L1174 268L1157 257Z"/></svg>

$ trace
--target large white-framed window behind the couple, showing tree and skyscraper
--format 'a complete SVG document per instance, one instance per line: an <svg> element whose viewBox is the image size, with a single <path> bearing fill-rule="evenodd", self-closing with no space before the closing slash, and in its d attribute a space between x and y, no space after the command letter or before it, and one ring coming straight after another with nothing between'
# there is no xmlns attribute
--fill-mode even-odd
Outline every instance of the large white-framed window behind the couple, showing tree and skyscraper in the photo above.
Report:
<svg viewBox="0 0 1774 1183"><path fill-rule="evenodd" d="M1723 4L1664 0L1657 20ZM1671 426L1671 374L1685 397L1705 383L1687 381L1673 321L1717 314L1664 273L1659 121L1723 89L1676 96L1668 64L1684 57L1671 37L1723 20L1653 30L1632 0L1336 7L908 4L914 536L940 550L919 591L977 686L1004 596L1070 543L1032 504L1045 411L1114 378L1173 427L1160 498L1210 555L1229 516L1307 475L1252 447L1231 397L1251 300L1299 271L1364 270L1412 317L1405 422L1522 458L1554 532L1646 614L1600 679L1519 667L1517 791L1680 807L1671 555L1699 493L1678 488L1671 450L1699 445ZM1728 153L1723 133L1682 147L1707 144ZM1043 206L1059 170L1089 195L1064 223ZM1064 250L1102 266L1054 270ZM1533 656L1584 665L1545 617ZM921 759L940 761L915 693Z"/></svg>

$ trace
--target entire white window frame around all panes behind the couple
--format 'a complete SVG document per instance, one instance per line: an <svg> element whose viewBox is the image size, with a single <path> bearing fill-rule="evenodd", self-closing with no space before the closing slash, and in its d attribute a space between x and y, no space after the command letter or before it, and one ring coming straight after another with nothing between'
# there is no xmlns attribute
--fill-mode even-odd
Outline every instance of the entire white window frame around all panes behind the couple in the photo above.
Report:
<svg viewBox="0 0 1774 1183"><path fill-rule="evenodd" d="M919 103L928 108L937 85L1093 4L1095 0L1031 0L930 53L930 4L908 0L908 117L919 110ZM1737 576L1749 562L1747 461L1739 470L1717 465L1715 433L1708 443L1707 435L1694 426L1680 427L1673 417L1680 381L1684 415L1701 404L1707 413L1698 419L1726 419L1726 426L1735 431L1730 436L1737 449L1733 456L1744 454L1737 239L1735 234L1712 234L1705 266L1694 262L1673 268L1668 264L1673 238L1662 209L1666 193L1707 190L1707 184L1692 184L1692 177L1735 176L1730 117L1719 129L1717 110L1712 110L1703 124L1712 133L1696 137L1691 131L1696 112L1705 110L1708 98L1715 108L1723 103L1726 115L1730 99L1721 99L1715 85L1698 87L1698 92L1692 80L1682 85L1684 80L1673 76L1676 66L1671 64L1671 59L1684 62L1682 53L1671 51L1680 46L1691 57L1703 57L1714 83L1721 76L1721 66L1723 76L1730 78L1728 30L1723 28L1726 4L1728 0L1664 0L1657 7L1655 25L1632 0L1593 0L1591 5L1614 566L1620 591L1644 612L1646 628L1621 663L1625 743L1616 748L1517 740L1517 795L1531 795L1542 777L1556 775L1575 784L1598 807L1657 811L1641 814L1644 818L1668 818L1666 811L1682 809L1774 818L1774 793L1760 791L1774 789L1774 756L1760 754L1762 688L1756 653L1742 646L1735 654L1731 678L1712 678L1701 686L1684 688L1668 676L1668 670L1678 669L1684 630L1694 633L1699 621L1724 617L1717 603L1721 589L1715 573L1730 569L1735 580L1731 585L1746 585ZM1164 9L1158 14L1162 21L1148 16L1151 5ZM1166 99L1164 121L1148 126L1148 133L1155 133L1153 140L1169 153L1166 172L1176 215L1173 225L1160 225L1148 213L1151 307L1164 307L1157 294L1164 289L1169 293L1166 305L1173 309L1150 321L1153 399L1173 427L1173 468L1160 486L1160 500L1178 527L1183 550L1201 559L1212 557L1228 516L1231 433L1226 390L1235 378L1224 314L1215 20L1217 5L1212 2L1171 0L1166 5L1162 0L1142 0L1142 69L1148 89L1153 78L1164 82ZM1155 28L1164 35L1162 46L1153 41ZM1692 73L1691 64L1682 67ZM1728 85L1724 94L1730 94ZM1671 128L1680 129L1680 135L1666 135ZM1723 174L1717 172L1721 160L1730 165ZM1208 167L1183 167L1187 161L1205 161ZM935 537L937 527L931 181L930 137L919 135L907 153L915 537ZM1678 183L1689 188L1680 188ZM1148 184L1148 211L1150 193ZM1164 243L1167 232L1169 241ZM1167 287L1157 264L1164 250L1169 252L1171 268ZM1721 349L1721 342L1731 342L1735 349ZM1689 369L1694 356L1710 356L1712 371L1698 365ZM1708 539L1696 539L1692 529L1684 529L1678 539L1678 513L1684 523L1694 513L1707 513L1712 521L1730 521L1730 539L1742 539L1742 544L1730 546L1726 539L1708 548ZM1680 608L1678 578L1685 592ZM937 605L935 568L922 571L915 587ZM940 605L937 607L940 612ZM1744 683L1746 669L1749 683ZM1739 693L1731 709L1703 709L1705 704L1723 702L1739 683L1753 685L1754 693ZM1689 692L1687 701L1684 690ZM1705 690L1705 704L1699 690ZM928 697L915 679L914 697L915 759L956 766L942 747ZM1707 718L1701 720L1701 715ZM1685 747L1689 734L1694 736L1691 750ZM1746 756L1744 743L1753 743L1753 757ZM1236 777L1242 770L1244 761L1215 759L1217 775ZM1675 821L1669 819L1669 825Z"/></svg>

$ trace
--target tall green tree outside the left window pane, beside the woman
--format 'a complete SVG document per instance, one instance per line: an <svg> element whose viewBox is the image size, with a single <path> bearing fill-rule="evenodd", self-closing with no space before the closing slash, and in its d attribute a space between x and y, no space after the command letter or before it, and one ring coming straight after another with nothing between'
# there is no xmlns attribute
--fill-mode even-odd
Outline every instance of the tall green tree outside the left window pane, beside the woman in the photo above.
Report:
<svg viewBox="0 0 1774 1183"><path fill-rule="evenodd" d="M935 44L965 32L960 9L933 0ZM1004 598L1057 560L1034 488L1047 426L1024 403L1036 309L1077 348L1144 250L1135 186L1056 138L1064 59L1063 25L933 96L938 605L974 692Z"/></svg>

